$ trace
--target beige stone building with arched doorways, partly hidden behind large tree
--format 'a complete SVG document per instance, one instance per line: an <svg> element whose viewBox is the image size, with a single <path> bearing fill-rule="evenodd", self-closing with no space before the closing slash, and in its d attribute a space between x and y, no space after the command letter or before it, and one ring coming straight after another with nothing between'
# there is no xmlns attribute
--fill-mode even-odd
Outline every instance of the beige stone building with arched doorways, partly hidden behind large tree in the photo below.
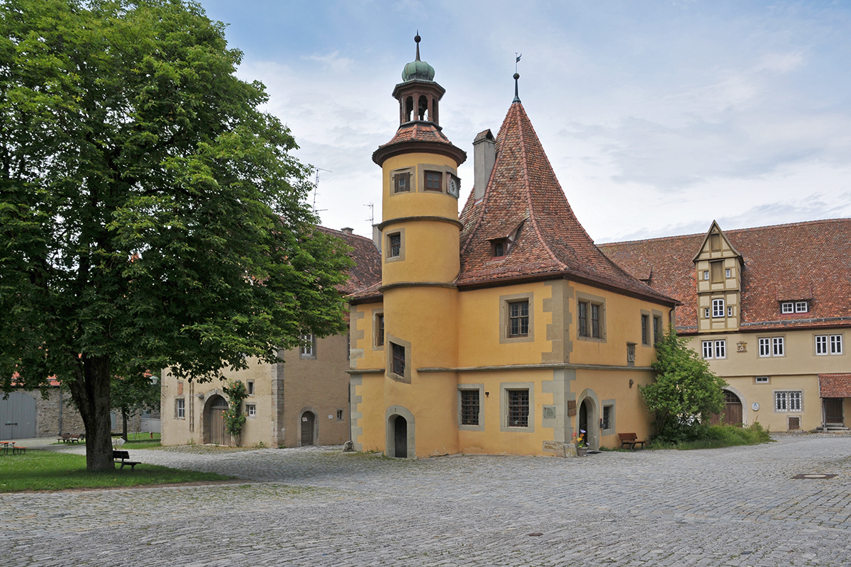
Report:
<svg viewBox="0 0 851 567"><path fill-rule="evenodd" d="M373 241L351 229L332 230L351 246L355 266L341 293L377 281L379 252ZM281 362L250 363L248 369L223 369L222 379L209 383L178 380L163 371L161 427L163 445L231 445L222 416L226 380L241 380L248 389L243 411L246 422L240 445L271 447L340 445L349 439L349 343L347 335L306 336L310 346L280 353Z"/></svg>

